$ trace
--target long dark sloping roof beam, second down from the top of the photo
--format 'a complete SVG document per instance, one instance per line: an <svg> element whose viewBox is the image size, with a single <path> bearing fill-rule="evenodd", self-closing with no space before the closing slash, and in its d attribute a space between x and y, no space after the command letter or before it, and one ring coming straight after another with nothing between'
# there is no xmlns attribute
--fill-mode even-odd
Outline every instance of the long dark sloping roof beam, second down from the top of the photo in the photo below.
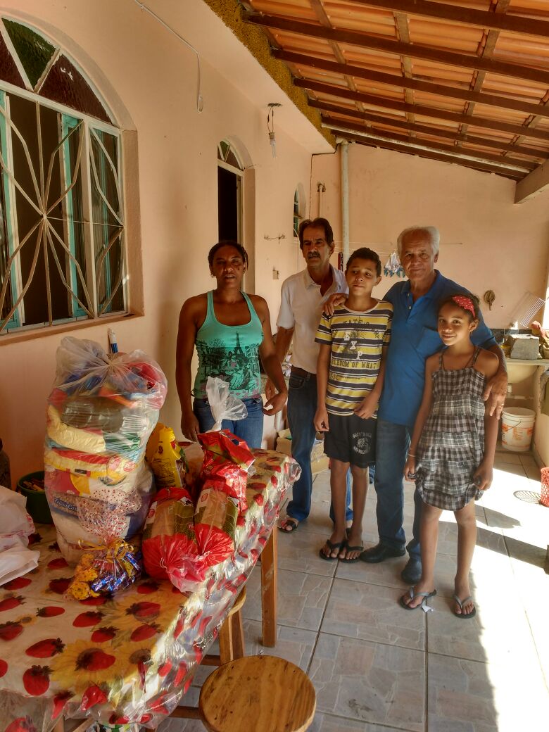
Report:
<svg viewBox="0 0 549 732"><path fill-rule="evenodd" d="M478 69L493 74L509 76L512 78L534 81L544 86L549 86L549 72L535 69L520 64L511 64L507 61L493 61L482 59L478 56L469 56L466 53L454 53L443 51L439 48L430 48L417 43L403 43L400 41L387 40L376 36L370 36L360 31L348 31L343 29L326 28L313 23L302 23L301 20L281 18L278 15L262 15L261 13L242 12L242 19L247 23L264 28L275 28L288 33L323 38L326 41L332 40L340 43L359 45L362 48L370 48L375 51L395 53L396 56L411 56L415 59L426 59L435 61L438 64L448 64L466 69Z"/></svg>

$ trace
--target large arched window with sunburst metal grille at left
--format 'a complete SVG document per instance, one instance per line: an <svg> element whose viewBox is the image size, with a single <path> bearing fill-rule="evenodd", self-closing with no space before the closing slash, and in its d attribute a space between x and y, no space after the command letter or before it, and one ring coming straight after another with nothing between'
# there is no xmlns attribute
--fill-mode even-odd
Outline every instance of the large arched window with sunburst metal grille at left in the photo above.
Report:
<svg viewBox="0 0 549 732"><path fill-rule="evenodd" d="M0 336L126 309L122 139L55 42L0 19Z"/></svg>

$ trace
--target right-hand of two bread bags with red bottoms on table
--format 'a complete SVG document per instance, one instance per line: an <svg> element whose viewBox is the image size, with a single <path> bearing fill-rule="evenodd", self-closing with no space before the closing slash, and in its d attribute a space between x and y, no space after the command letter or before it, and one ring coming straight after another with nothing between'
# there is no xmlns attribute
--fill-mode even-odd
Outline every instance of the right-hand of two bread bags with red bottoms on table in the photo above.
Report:
<svg viewBox="0 0 549 732"><path fill-rule="evenodd" d="M195 535L207 567L225 561L234 551L239 507L237 499L224 488L223 478L206 479L196 504Z"/></svg>

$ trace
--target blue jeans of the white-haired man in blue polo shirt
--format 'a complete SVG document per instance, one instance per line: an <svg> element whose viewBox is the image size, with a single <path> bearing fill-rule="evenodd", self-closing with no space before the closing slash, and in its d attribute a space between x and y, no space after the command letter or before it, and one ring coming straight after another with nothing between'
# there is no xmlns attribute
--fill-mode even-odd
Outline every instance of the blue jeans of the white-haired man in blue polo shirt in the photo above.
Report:
<svg viewBox="0 0 549 732"><path fill-rule="evenodd" d="M403 549L404 536L404 482L403 472L406 454L410 445L412 427L395 425L378 419L376 439L376 477L374 485L378 496L377 518L380 544ZM422 512L422 498L414 491L414 527L408 546L410 556L421 558L419 551L419 523Z"/></svg>

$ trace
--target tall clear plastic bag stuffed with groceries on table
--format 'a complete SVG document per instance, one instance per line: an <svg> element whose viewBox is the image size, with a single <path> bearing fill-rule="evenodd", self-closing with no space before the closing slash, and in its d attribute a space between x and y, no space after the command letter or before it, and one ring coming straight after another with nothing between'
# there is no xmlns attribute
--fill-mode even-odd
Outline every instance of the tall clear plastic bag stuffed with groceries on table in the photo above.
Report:
<svg viewBox="0 0 549 732"><path fill-rule="evenodd" d="M141 530L154 481L144 452L166 395L160 366L142 351L108 354L65 337L48 397L45 493L65 559Z"/></svg>

